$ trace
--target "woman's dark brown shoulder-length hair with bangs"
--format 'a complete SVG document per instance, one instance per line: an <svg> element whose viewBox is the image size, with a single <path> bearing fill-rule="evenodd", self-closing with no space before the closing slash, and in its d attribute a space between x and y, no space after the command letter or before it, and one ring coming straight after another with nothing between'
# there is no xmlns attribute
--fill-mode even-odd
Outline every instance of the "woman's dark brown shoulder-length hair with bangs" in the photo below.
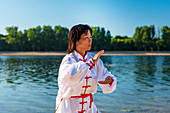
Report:
<svg viewBox="0 0 170 113"><path fill-rule="evenodd" d="M67 53L70 54L74 50L76 50L76 42L80 40L82 34L87 33L90 30L92 35L92 29L88 25L75 25L71 28L68 34L68 49Z"/></svg>

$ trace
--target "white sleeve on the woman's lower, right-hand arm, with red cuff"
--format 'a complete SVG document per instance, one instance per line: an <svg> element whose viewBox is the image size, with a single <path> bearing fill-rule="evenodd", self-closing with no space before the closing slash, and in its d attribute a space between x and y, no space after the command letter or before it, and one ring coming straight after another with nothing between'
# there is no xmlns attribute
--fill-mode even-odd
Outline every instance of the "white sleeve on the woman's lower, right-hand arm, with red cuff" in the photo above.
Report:
<svg viewBox="0 0 170 113"><path fill-rule="evenodd" d="M103 93L111 93L116 89L117 79L114 75L112 75L107 68L104 66L101 59L99 59L97 63L97 75L98 81L103 81L107 76L111 76L114 80L112 84L99 84Z"/></svg>

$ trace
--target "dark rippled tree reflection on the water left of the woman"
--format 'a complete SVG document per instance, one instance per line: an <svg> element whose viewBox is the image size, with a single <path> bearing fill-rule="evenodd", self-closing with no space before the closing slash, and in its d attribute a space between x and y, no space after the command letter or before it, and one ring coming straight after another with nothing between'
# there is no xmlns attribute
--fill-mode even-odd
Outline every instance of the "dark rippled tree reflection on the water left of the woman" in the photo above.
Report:
<svg viewBox="0 0 170 113"><path fill-rule="evenodd" d="M8 57L0 59L1 74L10 84L57 87L58 68L62 57ZM2 82L2 79L1 79Z"/></svg>

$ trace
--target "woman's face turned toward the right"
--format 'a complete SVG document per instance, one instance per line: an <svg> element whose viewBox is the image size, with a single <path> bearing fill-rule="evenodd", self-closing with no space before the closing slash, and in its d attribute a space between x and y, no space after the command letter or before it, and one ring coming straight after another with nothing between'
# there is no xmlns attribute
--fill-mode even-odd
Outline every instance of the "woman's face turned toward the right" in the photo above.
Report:
<svg viewBox="0 0 170 113"><path fill-rule="evenodd" d="M91 33L90 30L88 30L88 32L83 33L80 37L80 40L76 42L76 48L83 51L88 51L91 49L91 44L92 44Z"/></svg>

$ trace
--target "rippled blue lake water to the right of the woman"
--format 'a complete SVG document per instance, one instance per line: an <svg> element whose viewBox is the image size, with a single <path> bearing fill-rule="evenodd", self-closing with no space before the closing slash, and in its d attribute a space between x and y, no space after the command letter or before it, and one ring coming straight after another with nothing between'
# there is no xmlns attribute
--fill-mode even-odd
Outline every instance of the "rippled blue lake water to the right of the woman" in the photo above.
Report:
<svg viewBox="0 0 170 113"><path fill-rule="evenodd" d="M170 57L112 56L102 59L106 63L105 66L118 78L117 90L109 97L114 98L113 101L119 104L108 103L112 105L109 109L119 112L170 111L168 107ZM102 96L106 98L105 95ZM103 112L108 112L102 107L103 104L97 104Z"/></svg>

